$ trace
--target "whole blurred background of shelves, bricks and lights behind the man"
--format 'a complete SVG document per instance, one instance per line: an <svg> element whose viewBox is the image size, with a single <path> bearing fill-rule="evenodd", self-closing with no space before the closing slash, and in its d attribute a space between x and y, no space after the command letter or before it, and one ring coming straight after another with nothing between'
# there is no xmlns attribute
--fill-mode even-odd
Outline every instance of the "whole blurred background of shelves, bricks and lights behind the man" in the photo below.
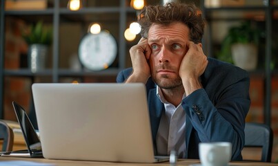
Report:
<svg viewBox="0 0 278 166"><path fill-rule="evenodd" d="M34 127L37 127L32 103L32 83L115 82L119 71L131 67L128 50L141 38L138 34L140 27L136 25L138 11L143 6L167 1L0 2L0 119L16 121L12 109L12 101L16 101L28 111ZM194 3L206 18L204 53L235 64L250 73L252 104L246 122L260 122L272 127L275 136L272 161L277 161L278 1L181 2ZM105 32L109 37L98 35L100 32ZM106 42L116 49L102 44ZM241 44L250 45L250 50L243 50L249 46ZM90 59L86 53L90 54L92 47L96 47L99 54ZM104 59L110 61L104 62L102 66L94 68L86 64L86 61L101 61L101 55L103 60L106 54L108 57ZM255 154L251 156L256 157Z"/></svg>

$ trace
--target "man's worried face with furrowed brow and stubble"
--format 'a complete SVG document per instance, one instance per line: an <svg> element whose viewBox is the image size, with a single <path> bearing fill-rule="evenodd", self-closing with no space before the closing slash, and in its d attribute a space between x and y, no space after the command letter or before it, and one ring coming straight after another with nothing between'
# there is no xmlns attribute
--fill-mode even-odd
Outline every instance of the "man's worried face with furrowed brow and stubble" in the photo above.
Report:
<svg viewBox="0 0 278 166"><path fill-rule="evenodd" d="M181 23L161 26L154 24L148 33L150 71L152 79L161 89L182 86L179 66L188 51L189 28Z"/></svg>

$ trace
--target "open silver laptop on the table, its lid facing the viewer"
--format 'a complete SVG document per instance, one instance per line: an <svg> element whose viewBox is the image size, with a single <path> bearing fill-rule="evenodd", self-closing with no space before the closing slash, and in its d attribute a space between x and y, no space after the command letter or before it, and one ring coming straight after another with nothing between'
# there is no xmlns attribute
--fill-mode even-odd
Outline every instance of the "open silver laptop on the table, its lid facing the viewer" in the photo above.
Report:
<svg viewBox="0 0 278 166"><path fill-rule="evenodd" d="M33 84L43 157L156 163L143 84Z"/></svg>

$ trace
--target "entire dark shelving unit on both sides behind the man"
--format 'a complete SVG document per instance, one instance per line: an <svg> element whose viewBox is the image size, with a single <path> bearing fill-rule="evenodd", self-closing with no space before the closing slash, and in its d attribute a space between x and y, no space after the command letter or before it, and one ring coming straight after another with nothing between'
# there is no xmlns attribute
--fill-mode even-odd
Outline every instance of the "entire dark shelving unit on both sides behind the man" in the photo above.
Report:
<svg viewBox="0 0 278 166"><path fill-rule="evenodd" d="M136 19L136 11L133 8L130 8L127 5L126 0L119 0L119 6L100 6L100 7L86 7L78 11L70 11L65 6L60 6L60 2L63 0L48 0L52 4L46 10L5 10L5 0L0 1L0 119L3 118L3 91L4 87L4 78L5 77L31 77L33 80L34 77L50 77L51 82L59 82L63 77L115 77L119 71L123 68L126 68L127 57L128 57L128 48L134 44L126 42L124 39L124 30L128 24L128 15L134 15ZM184 0L188 2L190 0ZM193 0L191 0L193 1ZM261 0L263 1L263 0ZM158 3L159 0L150 0L148 4ZM272 59L272 27L273 22L277 21L272 18L275 10L277 11L278 5L272 5L271 0L267 0L267 6L237 6L237 7L218 7L218 8L206 8L205 0L193 1L196 4L200 5L200 8L203 12L203 15L208 21L207 28L207 37L208 43L203 44L204 50L210 57L214 57L213 53L213 41L212 41L212 22L213 21L236 21L244 20L244 17L215 17L212 15L213 12L264 12L264 27L266 30L266 48L264 55L264 67L259 68L256 71L250 72L250 77L259 76L264 79L264 123L271 124L271 80L273 75L277 75L277 68L271 70L270 62ZM71 69L60 68L59 67L59 42L60 42L60 32L59 27L61 21L64 19L70 19L72 15L77 15L81 17L82 15L87 14L99 14L99 13L108 13L108 14L117 14L119 15L119 27L118 33L119 36L117 39L118 44L118 54L117 54L117 66L112 66L103 71L72 71ZM34 20L28 20L30 16L36 16ZM4 57L5 57L5 20L6 17L16 17L21 19L26 19L28 21L37 21L39 17L46 17L47 21L50 21L53 28L53 42L52 42L52 66L47 68L45 71L38 73L32 73L27 68L19 68L17 70L10 70L4 67ZM76 20L75 20L76 21ZM82 20L80 20L82 21Z"/></svg>

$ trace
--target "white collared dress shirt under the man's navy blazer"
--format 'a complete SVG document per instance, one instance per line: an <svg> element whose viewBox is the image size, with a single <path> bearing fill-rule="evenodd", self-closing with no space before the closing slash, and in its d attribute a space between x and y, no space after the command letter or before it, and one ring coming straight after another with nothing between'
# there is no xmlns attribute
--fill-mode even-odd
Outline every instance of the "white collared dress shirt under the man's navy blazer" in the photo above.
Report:
<svg viewBox="0 0 278 166"><path fill-rule="evenodd" d="M179 104L175 107L166 101L161 89L157 86L157 97L164 104L157 131L157 154L169 156L170 151L175 150L179 158L186 157L186 112ZM185 95L183 95L185 98Z"/></svg>

